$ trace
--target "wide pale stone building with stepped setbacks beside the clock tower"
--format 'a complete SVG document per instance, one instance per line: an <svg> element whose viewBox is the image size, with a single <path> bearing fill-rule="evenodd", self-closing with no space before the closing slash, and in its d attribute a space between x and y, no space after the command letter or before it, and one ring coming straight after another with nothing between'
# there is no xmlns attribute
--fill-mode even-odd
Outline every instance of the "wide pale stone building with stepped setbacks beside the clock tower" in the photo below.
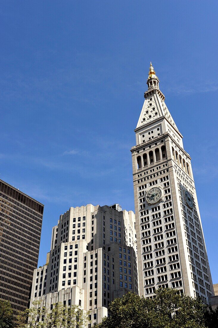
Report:
<svg viewBox="0 0 218 328"><path fill-rule="evenodd" d="M52 229L47 264L34 271L31 300L79 305L91 327L128 291L138 293L134 213L118 204L70 207Z"/></svg>

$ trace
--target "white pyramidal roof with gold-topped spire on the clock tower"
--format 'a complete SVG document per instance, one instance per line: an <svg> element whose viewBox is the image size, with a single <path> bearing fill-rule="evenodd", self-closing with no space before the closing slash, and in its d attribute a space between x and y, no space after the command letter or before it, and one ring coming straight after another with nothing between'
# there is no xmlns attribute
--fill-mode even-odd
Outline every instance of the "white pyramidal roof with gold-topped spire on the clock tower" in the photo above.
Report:
<svg viewBox="0 0 218 328"><path fill-rule="evenodd" d="M165 96L159 89L159 79L150 63L149 78L147 80L148 91L145 92L145 102L137 123L136 129L160 118L165 117L170 124L178 130L172 116L165 104ZM178 130L179 131L179 130Z"/></svg>

